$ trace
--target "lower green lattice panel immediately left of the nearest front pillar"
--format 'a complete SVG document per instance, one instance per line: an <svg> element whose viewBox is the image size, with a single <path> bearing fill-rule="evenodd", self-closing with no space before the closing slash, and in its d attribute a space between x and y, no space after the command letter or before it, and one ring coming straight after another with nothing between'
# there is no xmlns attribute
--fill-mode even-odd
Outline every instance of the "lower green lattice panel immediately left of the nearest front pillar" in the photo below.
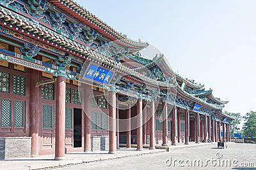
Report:
<svg viewBox="0 0 256 170"><path fill-rule="evenodd" d="M52 106L43 105L43 128L52 129Z"/></svg>

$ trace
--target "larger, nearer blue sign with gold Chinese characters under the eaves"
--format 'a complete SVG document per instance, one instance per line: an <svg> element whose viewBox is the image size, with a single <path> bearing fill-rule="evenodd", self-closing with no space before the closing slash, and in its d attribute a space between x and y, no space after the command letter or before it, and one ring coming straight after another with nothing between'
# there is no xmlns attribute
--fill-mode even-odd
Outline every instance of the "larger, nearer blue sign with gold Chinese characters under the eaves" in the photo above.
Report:
<svg viewBox="0 0 256 170"><path fill-rule="evenodd" d="M86 73L84 74L84 78L89 78L91 80L95 80L100 83L106 83L106 84L109 83L112 76L113 76L113 72L108 71L108 69L95 66L93 64L90 64Z"/></svg>

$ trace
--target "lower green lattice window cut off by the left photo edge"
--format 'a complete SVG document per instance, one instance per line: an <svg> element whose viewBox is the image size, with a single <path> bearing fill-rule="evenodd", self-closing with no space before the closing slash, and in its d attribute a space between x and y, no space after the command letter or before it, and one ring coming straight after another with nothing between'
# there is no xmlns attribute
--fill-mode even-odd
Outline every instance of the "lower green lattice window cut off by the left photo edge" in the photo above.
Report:
<svg viewBox="0 0 256 170"><path fill-rule="evenodd" d="M1 106L1 127L11 127L12 101L2 99Z"/></svg>

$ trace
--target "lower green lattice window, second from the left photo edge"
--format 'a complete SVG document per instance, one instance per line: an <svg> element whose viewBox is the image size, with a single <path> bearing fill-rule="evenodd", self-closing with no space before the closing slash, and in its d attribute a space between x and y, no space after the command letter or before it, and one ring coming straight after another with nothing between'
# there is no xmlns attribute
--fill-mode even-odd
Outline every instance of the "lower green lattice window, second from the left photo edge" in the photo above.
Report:
<svg viewBox="0 0 256 170"><path fill-rule="evenodd" d="M14 101L14 127L24 127L24 106L23 101Z"/></svg>

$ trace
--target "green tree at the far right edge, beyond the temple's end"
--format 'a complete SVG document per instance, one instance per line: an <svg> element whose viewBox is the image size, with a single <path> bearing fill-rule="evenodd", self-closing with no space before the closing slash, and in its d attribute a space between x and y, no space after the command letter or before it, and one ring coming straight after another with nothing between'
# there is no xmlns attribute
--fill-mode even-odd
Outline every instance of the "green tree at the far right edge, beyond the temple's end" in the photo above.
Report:
<svg viewBox="0 0 256 170"><path fill-rule="evenodd" d="M244 118L244 136L253 136L256 138L256 111L246 113Z"/></svg>

